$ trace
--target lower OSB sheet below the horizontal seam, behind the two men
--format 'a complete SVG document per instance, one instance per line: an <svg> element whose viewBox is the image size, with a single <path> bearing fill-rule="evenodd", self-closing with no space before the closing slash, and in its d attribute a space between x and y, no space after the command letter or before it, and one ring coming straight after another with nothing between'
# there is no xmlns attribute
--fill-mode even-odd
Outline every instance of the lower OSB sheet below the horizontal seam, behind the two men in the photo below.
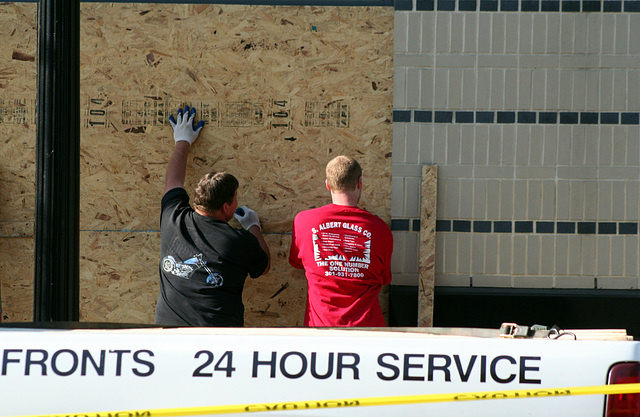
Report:
<svg viewBox="0 0 640 417"><path fill-rule="evenodd" d="M266 235L273 257L271 271L247 278L245 325L302 325L306 280L288 266L290 236ZM157 232L81 233L80 319L87 322L153 323L158 298ZM109 263L118 254L126 270Z"/></svg>

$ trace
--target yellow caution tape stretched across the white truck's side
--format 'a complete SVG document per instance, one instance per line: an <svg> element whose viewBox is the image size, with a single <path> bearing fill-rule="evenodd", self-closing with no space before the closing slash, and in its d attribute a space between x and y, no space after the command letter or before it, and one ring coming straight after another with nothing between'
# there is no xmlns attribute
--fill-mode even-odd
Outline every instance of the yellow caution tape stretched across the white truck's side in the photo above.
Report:
<svg viewBox="0 0 640 417"><path fill-rule="evenodd" d="M475 401L475 400L499 400L509 398L547 398L564 397L570 395L596 395L596 394L633 394L640 393L640 384L616 384L600 385L592 387L571 387L571 388L546 388L529 390L510 391L483 391L465 392L454 394L426 394L426 395L403 395L394 397L373 397L373 398L349 398L339 400L319 400L319 401L291 401L261 404L238 404L238 405L217 405L209 407L182 407L164 408L148 410L120 410L101 411L90 413L63 413L63 414L37 414L31 416L15 417L179 417L179 416L199 416L207 414L239 414L254 413L264 411L284 411L284 410L304 410L304 409L327 409L343 407L366 407L375 405L402 405L402 404L422 404L449 401Z"/></svg>

